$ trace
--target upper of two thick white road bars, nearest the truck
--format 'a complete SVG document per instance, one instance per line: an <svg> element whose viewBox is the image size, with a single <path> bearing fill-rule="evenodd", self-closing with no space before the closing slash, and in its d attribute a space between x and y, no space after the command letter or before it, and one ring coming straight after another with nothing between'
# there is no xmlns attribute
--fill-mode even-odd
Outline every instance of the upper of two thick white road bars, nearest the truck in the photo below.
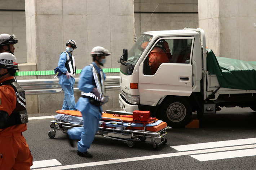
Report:
<svg viewBox="0 0 256 170"><path fill-rule="evenodd" d="M171 147L178 150L178 151L191 151L191 150L200 150L200 149L207 149L207 148L227 147L227 146L237 146L237 145L253 144L253 143L256 143L256 138L237 139L237 140L219 141L219 142L197 143L197 144L185 144L185 145L178 145L178 146L171 146Z"/></svg>

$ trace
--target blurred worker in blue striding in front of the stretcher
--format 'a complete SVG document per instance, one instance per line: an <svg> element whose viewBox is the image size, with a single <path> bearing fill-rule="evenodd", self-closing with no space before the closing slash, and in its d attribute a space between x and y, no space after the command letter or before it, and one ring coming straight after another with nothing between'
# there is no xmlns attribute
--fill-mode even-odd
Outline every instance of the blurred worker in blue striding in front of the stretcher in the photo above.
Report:
<svg viewBox="0 0 256 170"><path fill-rule="evenodd" d="M106 63L106 56L110 53L103 47L94 47L91 52L93 62L83 68L80 73L78 87L81 92L76 109L78 109L84 119L83 127L72 128L68 130L68 136L71 146L74 146L72 140L80 139L78 142L78 155L82 157L92 157L87 150L90 148L95 133L98 130L101 120L102 107L109 98L105 96L104 81L106 78L101 66Z"/></svg>

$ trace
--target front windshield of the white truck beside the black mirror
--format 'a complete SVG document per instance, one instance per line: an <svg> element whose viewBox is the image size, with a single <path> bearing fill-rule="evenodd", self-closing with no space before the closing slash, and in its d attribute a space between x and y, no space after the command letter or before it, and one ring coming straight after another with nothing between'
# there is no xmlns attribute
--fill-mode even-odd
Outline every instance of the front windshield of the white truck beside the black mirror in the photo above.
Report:
<svg viewBox="0 0 256 170"><path fill-rule="evenodd" d="M120 72L125 75L131 75L133 68L140 58L142 52L146 48L147 44L151 40L152 36L141 35L136 43L133 44L132 48L128 51L128 59L123 62L120 66Z"/></svg>

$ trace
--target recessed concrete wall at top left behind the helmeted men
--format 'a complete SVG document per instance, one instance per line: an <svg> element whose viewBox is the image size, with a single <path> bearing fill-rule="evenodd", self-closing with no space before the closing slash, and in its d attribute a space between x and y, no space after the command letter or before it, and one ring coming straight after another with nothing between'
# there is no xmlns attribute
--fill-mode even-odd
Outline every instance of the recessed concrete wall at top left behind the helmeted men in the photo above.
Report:
<svg viewBox="0 0 256 170"><path fill-rule="evenodd" d="M15 34L18 63L27 63L25 0L0 0L0 34Z"/></svg>

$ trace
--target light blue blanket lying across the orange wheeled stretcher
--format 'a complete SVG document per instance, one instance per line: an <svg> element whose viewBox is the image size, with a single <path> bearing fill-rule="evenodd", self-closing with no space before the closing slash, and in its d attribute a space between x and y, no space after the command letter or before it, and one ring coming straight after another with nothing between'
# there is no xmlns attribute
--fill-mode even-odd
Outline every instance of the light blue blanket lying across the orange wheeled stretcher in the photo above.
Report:
<svg viewBox="0 0 256 170"><path fill-rule="evenodd" d="M62 120L65 122L69 122L72 124L80 124L83 125L83 118L82 117L77 117L77 116L71 116L71 115L65 115L65 114L57 114L55 115L55 118L58 120ZM152 127L152 126L157 126L160 123L162 123L162 120L157 120L154 123L146 124L146 127ZM121 127L122 123L120 121L108 121L105 123L101 123L101 125L104 125L106 127ZM143 123L126 123L124 122L124 127L143 127Z"/></svg>

